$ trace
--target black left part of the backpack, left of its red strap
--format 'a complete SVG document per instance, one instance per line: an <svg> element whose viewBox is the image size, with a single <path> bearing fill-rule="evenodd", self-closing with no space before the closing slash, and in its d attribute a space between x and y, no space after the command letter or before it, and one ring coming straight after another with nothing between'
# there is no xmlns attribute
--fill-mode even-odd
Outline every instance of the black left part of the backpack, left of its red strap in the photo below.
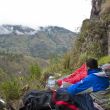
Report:
<svg viewBox="0 0 110 110"><path fill-rule="evenodd" d="M36 91L32 90L24 95L23 107L19 110L51 110L52 91Z"/></svg>

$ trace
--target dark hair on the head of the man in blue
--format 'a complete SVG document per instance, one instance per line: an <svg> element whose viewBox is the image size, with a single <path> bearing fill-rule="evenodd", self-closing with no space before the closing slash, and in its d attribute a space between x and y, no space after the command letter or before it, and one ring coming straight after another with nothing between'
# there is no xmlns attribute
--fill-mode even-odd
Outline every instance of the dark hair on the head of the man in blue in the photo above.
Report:
<svg viewBox="0 0 110 110"><path fill-rule="evenodd" d="M95 69L98 68L98 62L96 59L94 58L90 58L86 61L86 65L87 67L89 67L90 69Z"/></svg>

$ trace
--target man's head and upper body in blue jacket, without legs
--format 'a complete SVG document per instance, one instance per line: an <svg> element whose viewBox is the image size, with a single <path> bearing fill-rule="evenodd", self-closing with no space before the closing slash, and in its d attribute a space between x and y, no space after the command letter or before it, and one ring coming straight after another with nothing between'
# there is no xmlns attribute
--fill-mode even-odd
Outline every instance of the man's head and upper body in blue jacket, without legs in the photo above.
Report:
<svg viewBox="0 0 110 110"><path fill-rule="evenodd" d="M97 60L91 58L87 60L86 65L88 68L88 75L81 81L67 88L68 93L71 95L76 95L85 91L97 92L109 87L109 78L102 75L100 76L102 70L98 68Z"/></svg>

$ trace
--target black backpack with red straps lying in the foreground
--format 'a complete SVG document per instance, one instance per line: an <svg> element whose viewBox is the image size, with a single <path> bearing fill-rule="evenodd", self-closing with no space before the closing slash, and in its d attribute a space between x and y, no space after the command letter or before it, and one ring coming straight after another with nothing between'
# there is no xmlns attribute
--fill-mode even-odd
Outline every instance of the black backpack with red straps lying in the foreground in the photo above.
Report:
<svg viewBox="0 0 110 110"><path fill-rule="evenodd" d="M22 100L24 106L19 110L78 110L66 92L32 90Z"/></svg>

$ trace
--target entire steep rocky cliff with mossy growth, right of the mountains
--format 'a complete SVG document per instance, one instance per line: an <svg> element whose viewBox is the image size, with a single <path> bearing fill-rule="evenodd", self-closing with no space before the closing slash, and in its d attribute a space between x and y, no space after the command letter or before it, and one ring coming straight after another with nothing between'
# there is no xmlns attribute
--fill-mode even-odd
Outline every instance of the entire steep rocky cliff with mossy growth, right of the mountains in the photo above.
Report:
<svg viewBox="0 0 110 110"><path fill-rule="evenodd" d="M75 48L79 57L110 55L110 0L92 0L90 19L83 21Z"/></svg>

